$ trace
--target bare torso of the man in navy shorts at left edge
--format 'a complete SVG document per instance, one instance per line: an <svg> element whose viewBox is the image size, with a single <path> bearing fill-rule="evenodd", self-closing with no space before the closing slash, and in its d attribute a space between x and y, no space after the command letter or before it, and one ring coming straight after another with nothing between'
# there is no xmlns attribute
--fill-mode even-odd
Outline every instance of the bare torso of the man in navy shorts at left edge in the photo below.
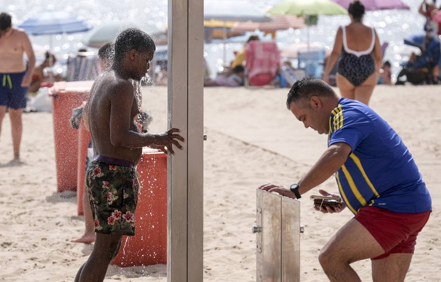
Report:
<svg viewBox="0 0 441 282"><path fill-rule="evenodd" d="M0 37L0 73L21 73L26 70L23 62L23 37L26 33L22 29L12 28L11 34Z"/></svg>

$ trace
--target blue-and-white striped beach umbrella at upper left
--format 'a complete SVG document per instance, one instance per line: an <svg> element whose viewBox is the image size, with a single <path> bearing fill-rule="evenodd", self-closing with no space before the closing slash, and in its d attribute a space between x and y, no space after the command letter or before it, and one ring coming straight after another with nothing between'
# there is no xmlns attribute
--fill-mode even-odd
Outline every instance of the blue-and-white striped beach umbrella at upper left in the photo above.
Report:
<svg viewBox="0 0 441 282"><path fill-rule="evenodd" d="M92 27L68 12L49 11L28 18L19 28L32 35L51 35L84 32Z"/></svg>

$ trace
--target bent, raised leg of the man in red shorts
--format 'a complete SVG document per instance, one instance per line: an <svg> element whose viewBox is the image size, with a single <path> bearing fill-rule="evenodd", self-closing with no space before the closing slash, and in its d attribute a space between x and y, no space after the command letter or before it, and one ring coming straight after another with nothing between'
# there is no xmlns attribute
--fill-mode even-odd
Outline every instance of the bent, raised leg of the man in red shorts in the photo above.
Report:
<svg viewBox="0 0 441 282"><path fill-rule="evenodd" d="M357 220L351 219L321 249L318 260L331 282L361 282L349 264L384 253L369 231Z"/></svg>

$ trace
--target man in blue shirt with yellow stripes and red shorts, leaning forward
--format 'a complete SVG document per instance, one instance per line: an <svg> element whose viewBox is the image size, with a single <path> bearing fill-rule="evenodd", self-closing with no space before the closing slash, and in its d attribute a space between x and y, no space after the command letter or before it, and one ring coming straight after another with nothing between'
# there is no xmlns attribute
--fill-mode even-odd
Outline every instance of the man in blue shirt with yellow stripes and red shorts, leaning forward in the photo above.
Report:
<svg viewBox="0 0 441 282"><path fill-rule="evenodd" d="M314 209L334 213L347 206L355 217L321 249L325 274L331 281L361 281L350 264L370 258L373 281L404 281L432 201L400 136L369 106L340 98L319 79L295 82L286 106L305 128L328 134L328 149L298 183L259 189L299 199L335 173L341 196L319 192L340 198L342 207Z"/></svg>

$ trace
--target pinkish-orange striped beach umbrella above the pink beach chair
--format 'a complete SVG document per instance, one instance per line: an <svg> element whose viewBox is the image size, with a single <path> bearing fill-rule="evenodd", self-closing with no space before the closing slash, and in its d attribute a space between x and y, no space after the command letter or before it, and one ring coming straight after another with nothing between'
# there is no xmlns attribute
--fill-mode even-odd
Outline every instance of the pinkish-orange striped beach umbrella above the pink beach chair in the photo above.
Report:
<svg viewBox="0 0 441 282"><path fill-rule="evenodd" d="M265 33L276 30L301 29L306 27L305 18L295 15L275 15L273 22L236 22L232 30L236 32L254 31L256 29Z"/></svg>

